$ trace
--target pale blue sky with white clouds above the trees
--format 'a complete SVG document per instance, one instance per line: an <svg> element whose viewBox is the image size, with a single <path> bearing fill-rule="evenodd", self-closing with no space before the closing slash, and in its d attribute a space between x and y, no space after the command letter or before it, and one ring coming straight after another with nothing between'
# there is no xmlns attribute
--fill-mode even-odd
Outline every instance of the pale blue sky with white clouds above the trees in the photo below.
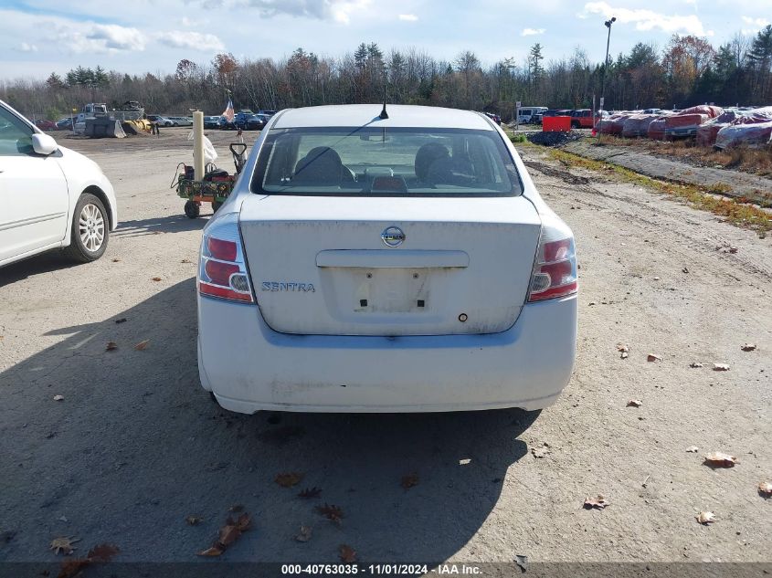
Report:
<svg viewBox="0 0 772 578"><path fill-rule="evenodd" d="M672 34L753 37L772 21L772 0L0 0L0 80L45 78L79 65L121 72L174 72L217 52L283 58L297 47L339 57L360 42L415 47L452 60L463 50L483 64L522 63L535 42L547 61L582 47L611 53L636 42L664 47Z"/></svg>

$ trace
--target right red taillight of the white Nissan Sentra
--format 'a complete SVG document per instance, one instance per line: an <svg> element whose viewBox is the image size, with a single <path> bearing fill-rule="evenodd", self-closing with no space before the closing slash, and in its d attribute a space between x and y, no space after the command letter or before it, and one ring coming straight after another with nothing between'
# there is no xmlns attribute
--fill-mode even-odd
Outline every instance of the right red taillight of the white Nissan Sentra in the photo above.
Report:
<svg viewBox="0 0 772 578"><path fill-rule="evenodd" d="M576 293L574 235L564 223L547 218L539 237L529 301L565 297Z"/></svg>

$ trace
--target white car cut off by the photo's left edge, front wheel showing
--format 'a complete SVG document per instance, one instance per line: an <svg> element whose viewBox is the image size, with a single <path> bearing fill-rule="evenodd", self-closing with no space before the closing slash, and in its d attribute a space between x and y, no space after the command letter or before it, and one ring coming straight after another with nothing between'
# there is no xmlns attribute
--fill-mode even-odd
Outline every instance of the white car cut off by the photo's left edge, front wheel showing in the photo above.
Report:
<svg viewBox="0 0 772 578"><path fill-rule="evenodd" d="M102 256L118 226L115 193L97 163L39 131L0 100L0 267L53 248Z"/></svg>

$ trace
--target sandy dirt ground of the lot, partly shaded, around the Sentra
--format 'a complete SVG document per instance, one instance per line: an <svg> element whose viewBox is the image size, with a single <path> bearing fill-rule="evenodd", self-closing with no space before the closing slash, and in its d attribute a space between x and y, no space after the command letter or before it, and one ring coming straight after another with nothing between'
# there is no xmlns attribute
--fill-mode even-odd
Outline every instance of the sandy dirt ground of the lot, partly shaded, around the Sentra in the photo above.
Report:
<svg viewBox="0 0 772 578"><path fill-rule="evenodd" d="M60 536L80 539L74 555L108 542L118 561L196 562L239 506L252 528L223 561L337 562L341 544L363 562L772 560L772 500L757 490L772 481L772 238L527 147L580 261L576 370L554 406L234 415L198 384L210 213L186 218L169 189L192 159L187 132L62 140L111 178L121 226L90 265L0 269L0 562L58 562ZM233 137L212 138L223 166ZM712 451L739 463L709 468ZM282 472L304 477L285 489ZM320 498L297 496L313 487ZM598 494L610 505L584 510ZM314 511L324 503L340 525ZM695 520L703 510L714 524ZM301 525L310 541L294 540Z"/></svg>

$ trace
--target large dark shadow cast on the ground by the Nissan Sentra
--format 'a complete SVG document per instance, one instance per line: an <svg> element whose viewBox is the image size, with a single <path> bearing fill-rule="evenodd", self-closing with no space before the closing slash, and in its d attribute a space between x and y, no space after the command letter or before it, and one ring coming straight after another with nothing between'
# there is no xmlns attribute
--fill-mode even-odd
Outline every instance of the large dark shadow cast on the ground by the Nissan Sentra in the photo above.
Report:
<svg viewBox="0 0 772 578"><path fill-rule="evenodd" d="M198 384L191 311L193 278L53 331L69 337L0 373L0 530L13 532L0 561L55 562L50 541L77 536L79 553L111 542L117 561L196 562L238 507L253 528L221 560L337 562L345 543L365 562L443 561L480 530L526 454L518 436L536 414L519 410L230 414ZM281 488L282 472L301 483ZM418 484L403 488L412 474ZM320 498L298 497L312 487ZM340 526L315 511L324 503L343 509ZM293 539L301 524L311 541Z"/></svg>

